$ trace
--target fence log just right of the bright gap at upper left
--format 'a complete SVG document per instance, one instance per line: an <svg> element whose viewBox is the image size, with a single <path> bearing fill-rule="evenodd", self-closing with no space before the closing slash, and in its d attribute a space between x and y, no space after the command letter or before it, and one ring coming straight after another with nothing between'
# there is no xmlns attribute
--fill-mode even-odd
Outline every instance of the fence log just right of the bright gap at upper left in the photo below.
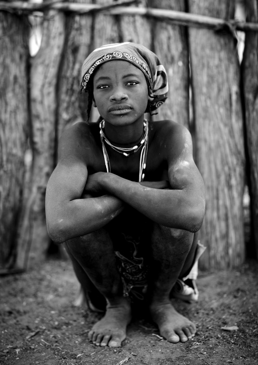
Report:
<svg viewBox="0 0 258 365"><path fill-rule="evenodd" d="M20 255L30 247L30 265L44 260L49 246L45 192L54 166L56 85L64 42L64 15L51 10L43 24L41 48L31 60L30 108L33 168L30 196L25 203L20 231Z"/></svg>

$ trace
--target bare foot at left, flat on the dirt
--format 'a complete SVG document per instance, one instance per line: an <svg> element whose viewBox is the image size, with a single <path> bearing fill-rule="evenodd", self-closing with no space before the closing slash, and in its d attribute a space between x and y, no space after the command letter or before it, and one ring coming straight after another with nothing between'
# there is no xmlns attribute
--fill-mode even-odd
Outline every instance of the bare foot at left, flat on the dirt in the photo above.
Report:
<svg viewBox="0 0 258 365"><path fill-rule="evenodd" d="M126 326L131 318L129 303L122 306L109 306L105 316L92 327L88 339L96 346L120 347L126 338Z"/></svg>

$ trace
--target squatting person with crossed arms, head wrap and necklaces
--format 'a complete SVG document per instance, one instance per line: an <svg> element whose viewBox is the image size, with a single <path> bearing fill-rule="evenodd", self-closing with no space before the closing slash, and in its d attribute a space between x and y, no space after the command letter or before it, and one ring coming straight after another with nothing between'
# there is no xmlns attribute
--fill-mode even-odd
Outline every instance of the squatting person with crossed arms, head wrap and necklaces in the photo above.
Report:
<svg viewBox="0 0 258 365"><path fill-rule="evenodd" d="M88 307L105 311L89 340L121 346L141 301L161 336L186 342L196 327L171 296L198 297L191 279L205 191L187 129L144 119L166 100L166 71L141 45L107 45L84 61L81 89L88 112L96 107L101 118L61 136L46 218L53 241L65 242Z"/></svg>

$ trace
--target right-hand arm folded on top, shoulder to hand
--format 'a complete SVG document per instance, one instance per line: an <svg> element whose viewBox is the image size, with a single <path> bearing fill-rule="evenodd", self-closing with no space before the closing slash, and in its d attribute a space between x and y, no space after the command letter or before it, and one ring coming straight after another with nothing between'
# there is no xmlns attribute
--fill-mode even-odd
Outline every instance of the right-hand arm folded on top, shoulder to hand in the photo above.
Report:
<svg viewBox="0 0 258 365"><path fill-rule="evenodd" d="M192 159L191 137L186 130L179 135L166 135L172 139L164 142L171 146L166 150L170 190L153 189L148 183L105 172L89 176L85 189L114 195L161 225L196 232L204 218L205 190Z"/></svg>

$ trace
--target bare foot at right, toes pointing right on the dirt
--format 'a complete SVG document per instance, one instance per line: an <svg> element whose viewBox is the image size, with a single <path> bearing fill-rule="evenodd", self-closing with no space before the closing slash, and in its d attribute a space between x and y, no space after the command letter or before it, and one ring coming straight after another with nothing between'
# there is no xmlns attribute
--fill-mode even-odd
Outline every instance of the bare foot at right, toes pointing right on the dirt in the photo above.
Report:
<svg viewBox="0 0 258 365"><path fill-rule="evenodd" d="M179 341L186 342L195 336L195 324L179 314L170 302L152 305L150 313L158 325L161 336L169 342L173 344Z"/></svg>

